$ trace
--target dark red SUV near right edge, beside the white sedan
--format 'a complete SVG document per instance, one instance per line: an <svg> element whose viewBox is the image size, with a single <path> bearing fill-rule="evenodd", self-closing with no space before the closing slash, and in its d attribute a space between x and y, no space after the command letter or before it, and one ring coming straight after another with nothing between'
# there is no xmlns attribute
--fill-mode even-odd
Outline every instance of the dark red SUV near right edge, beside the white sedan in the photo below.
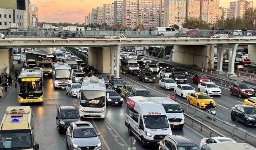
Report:
<svg viewBox="0 0 256 150"><path fill-rule="evenodd" d="M255 95L255 91L247 84L234 84L230 86L229 93L230 95L236 94L239 98L253 97Z"/></svg>

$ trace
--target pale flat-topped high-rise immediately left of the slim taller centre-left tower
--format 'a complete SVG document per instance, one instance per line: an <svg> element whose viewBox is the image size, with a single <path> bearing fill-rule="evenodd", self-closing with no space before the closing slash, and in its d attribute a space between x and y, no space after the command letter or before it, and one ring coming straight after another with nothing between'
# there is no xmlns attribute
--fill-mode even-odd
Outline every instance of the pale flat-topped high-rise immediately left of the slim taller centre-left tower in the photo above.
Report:
<svg viewBox="0 0 256 150"><path fill-rule="evenodd" d="M112 4L103 4L103 23L108 26L114 25L114 3Z"/></svg>

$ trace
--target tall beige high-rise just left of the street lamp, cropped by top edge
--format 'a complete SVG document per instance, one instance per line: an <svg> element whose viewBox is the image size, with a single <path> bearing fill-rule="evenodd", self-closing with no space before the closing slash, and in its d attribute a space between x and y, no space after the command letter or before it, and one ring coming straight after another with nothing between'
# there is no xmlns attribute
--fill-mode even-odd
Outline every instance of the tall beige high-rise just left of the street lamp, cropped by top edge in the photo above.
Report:
<svg viewBox="0 0 256 150"><path fill-rule="evenodd" d="M208 23L214 24L218 20L219 0L201 0L200 18Z"/></svg>

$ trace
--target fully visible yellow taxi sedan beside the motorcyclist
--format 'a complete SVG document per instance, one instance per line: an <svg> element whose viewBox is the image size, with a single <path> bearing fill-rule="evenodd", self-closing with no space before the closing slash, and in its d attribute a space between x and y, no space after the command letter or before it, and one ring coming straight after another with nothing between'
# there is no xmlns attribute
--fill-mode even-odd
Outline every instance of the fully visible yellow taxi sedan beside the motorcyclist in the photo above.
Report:
<svg viewBox="0 0 256 150"><path fill-rule="evenodd" d="M216 102L208 94L204 92L195 92L191 93L187 97L188 104L194 105L197 108L205 108L206 104L209 104L212 101L213 105L216 106Z"/></svg>

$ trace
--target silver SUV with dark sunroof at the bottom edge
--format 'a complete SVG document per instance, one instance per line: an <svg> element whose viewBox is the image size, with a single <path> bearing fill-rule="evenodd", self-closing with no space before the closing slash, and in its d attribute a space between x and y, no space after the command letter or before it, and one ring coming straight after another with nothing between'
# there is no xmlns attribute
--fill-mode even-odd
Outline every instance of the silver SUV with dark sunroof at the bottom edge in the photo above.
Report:
<svg viewBox="0 0 256 150"><path fill-rule="evenodd" d="M72 122L66 132L66 146L70 150L101 150L101 142L90 122Z"/></svg>

